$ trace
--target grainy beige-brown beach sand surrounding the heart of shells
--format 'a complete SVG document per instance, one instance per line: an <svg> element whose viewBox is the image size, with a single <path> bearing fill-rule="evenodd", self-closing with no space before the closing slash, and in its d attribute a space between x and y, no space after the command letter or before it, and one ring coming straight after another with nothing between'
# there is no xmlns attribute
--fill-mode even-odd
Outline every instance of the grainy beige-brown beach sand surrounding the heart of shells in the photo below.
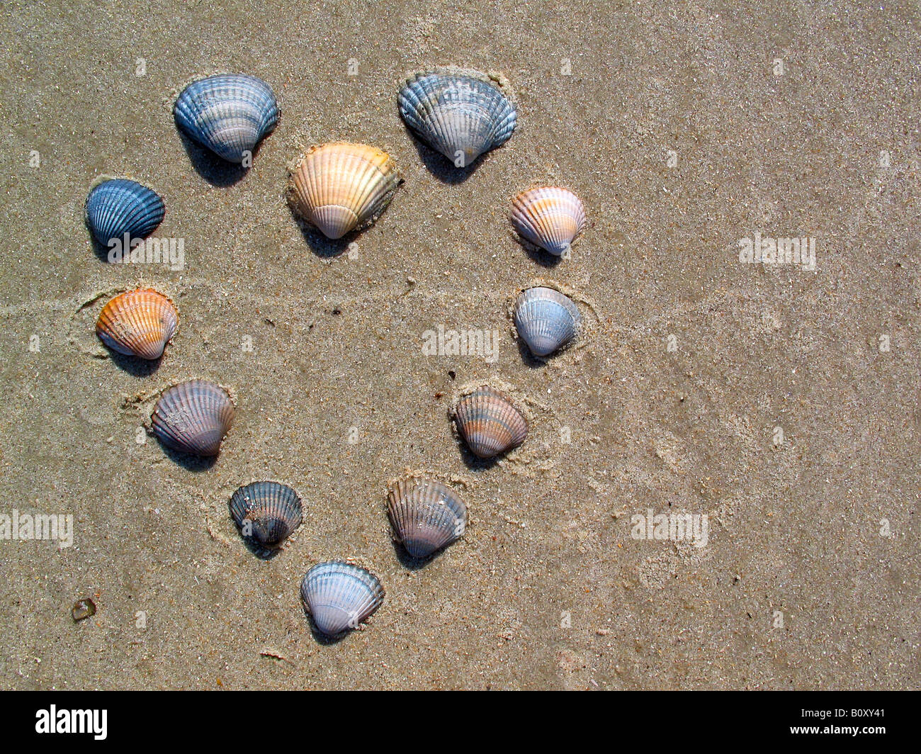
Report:
<svg viewBox="0 0 921 754"><path fill-rule="evenodd" d="M0 513L72 515L74 538L0 540L0 687L918 687L917 7L652 5L7 4ZM396 112L406 73L449 64L504 74L519 107L465 172ZM223 70L282 110L244 175L170 113ZM284 195L286 164L332 139L386 149L405 179L351 253L305 236ZM164 196L182 270L99 258L83 203L101 174ZM557 265L507 227L535 183L588 208ZM756 232L814 238L814 271L740 262ZM539 280L587 324L546 363L507 316ZM181 311L155 370L93 333L141 284ZM438 325L497 330L495 363L427 356ZM193 377L237 400L213 465L145 429ZM448 410L490 379L532 426L484 467ZM405 468L471 509L421 568L384 513ZM272 560L227 514L260 478L306 504ZM632 536L650 509L707 515L705 547ZM329 558L387 597L325 644L298 585Z"/></svg>

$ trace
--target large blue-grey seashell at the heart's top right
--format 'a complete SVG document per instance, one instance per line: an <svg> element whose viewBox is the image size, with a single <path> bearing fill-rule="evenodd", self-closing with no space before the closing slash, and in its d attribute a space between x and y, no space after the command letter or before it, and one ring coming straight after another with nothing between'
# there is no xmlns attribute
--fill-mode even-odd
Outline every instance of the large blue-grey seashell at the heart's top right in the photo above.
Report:
<svg viewBox="0 0 921 754"><path fill-rule="evenodd" d="M398 101L406 124L458 168L505 144L518 119L502 91L473 76L419 74Z"/></svg>

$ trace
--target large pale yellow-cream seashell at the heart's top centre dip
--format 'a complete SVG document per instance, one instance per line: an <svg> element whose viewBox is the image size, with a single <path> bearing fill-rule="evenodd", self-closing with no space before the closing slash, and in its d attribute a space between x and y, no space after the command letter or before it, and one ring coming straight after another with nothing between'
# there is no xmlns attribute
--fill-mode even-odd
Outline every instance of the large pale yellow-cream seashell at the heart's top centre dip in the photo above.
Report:
<svg viewBox="0 0 921 754"><path fill-rule="evenodd" d="M297 214L331 239L377 219L400 183L387 152L339 141L311 147L291 172Z"/></svg>

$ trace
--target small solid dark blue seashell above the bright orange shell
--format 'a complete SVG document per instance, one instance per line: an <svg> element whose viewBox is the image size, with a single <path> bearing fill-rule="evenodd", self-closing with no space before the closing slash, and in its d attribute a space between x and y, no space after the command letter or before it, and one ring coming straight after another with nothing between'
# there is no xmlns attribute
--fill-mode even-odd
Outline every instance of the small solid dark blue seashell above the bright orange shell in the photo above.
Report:
<svg viewBox="0 0 921 754"><path fill-rule="evenodd" d="M87 225L104 246L127 234L129 242L150 235L166 214L163 199L127 178L112 178L94 186L87 196Z"/></svg>

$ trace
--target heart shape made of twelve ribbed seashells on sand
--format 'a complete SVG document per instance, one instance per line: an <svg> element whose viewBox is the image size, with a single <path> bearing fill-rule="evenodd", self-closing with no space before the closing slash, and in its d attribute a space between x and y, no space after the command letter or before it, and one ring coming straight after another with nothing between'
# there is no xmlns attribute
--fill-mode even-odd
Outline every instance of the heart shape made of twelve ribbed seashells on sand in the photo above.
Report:
<svg viewBox="0 0 921 754"><path fill-rule="evenodd" d="M423 149L449 166L469 170L502 147L518 124L518 111L502 77L447 68L405 79L398 110ZM183 88L173 107L181 134L205 153L250 168L262 140L276 128L280 111L262 79L238 74L202 77ZM374 223L402 179L387 152L367 144L336 141L311 147L294 163L287 185L293 212L333 241ZM166 204L157 192L128 178L96 183L87 196L86 222L93 240L123 253L144 242L163 221ZM515 194L508 219L519 241L535 253L568 258L585 229L585 207L567 188L536 185ZM120 261L121 257L110 261ZM565 348L579 335L575 301L557 289L522 289L513 307L521 341L536 359ZM119 357L156 364L176 336L179 311L169 296L151 288L126 290L105 303L96 333ZM174 384L159 396L150 430L172 454L215 458L236 412L230 392L205 379ZM451 418L472 464L488 463L526 441L529 420L516 399L489 383L456 396ZM278 481L239 487L228 501L231 519L251 550L271 557L284 548L304 520L297 490ZM468 509L456 489L437 477L407 474L387 490L392 538L410 560L428 560L467 530ZM300 585L303 607L318 635L339 638L362 627L384 600L379 578L349 560L313 565Z"/></svg>

